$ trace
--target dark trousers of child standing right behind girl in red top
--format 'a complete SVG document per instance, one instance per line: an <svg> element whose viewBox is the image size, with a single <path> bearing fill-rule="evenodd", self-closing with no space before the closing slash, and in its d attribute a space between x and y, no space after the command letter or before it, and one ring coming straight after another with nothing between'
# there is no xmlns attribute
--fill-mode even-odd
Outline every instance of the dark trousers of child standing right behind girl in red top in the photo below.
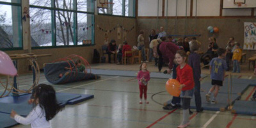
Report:
<svg viewBox="0 0 256 128"><path fill-rule="evenodd" d="M201 94L200 94L200 86L201 83L197 79L194 79L195 82L195 103L196 103L196 111L200 111L202 108Z"/></svg>

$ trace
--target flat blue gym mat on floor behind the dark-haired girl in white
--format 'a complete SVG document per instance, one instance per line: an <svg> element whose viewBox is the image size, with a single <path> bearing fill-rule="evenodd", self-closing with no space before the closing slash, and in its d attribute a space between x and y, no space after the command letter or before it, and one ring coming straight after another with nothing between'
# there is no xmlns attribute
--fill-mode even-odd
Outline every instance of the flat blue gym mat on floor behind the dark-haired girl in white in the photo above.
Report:
<svg viewBox="0 0 256 128"><path fill-rule="evenodd" d="M8 96L0 98L0 127L10 127L17 125L17 122L10 118L12 109L19 113L19 115L28 115L31 109L33 109L33 105L28 104L30 97L31 93L16 97ZM74 93L56 93L56 97L58 103L61 106L65 106L66 104L77 104L78 102L92 99L94 96Z"/></svg>

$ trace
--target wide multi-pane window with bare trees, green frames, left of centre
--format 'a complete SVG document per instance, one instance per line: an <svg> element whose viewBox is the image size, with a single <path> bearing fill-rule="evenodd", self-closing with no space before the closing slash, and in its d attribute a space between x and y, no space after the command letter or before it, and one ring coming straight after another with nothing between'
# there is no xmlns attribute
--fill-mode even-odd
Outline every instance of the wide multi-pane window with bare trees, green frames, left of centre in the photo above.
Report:
<svg viewBox="0 0 256 128"><path fill-rule="evenodd" d="M31 42L39 46L83 45L83 40L94 44L93 3L93 0L45 3L31 0Z"/></svg>

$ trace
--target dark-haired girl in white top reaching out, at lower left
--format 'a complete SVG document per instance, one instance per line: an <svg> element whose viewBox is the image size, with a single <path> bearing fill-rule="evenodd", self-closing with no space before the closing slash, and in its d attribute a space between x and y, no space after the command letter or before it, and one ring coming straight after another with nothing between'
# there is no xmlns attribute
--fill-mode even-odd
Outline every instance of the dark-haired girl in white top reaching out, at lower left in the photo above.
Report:
<svg viewBox="0 0 256 128"><path fill-rule="evenodd" d="M32 95L33 99L29 100L29 104L33 103L35 108L30 111L29 115L23 117L12 110L11 118L23 125L31 124L32 128L51 127L49 120L61 110L54 88L51 85L39 84Z"/></svg>

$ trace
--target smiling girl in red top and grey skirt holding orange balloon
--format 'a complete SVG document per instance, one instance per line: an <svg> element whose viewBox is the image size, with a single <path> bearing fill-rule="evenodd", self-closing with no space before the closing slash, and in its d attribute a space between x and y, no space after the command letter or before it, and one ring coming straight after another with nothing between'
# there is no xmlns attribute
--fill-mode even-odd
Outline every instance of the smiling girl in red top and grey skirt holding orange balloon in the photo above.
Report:
<svg viewBox="0 0 256 128"><path fill-rule="evenodd" d="M193 69L186 63L187 58L188 55L185 51L179 50L175 54L175 61L179 64L176 68L176 80L180 82L180 98L183 107L183 119L178 127L187 127L189 125L189 106L190 100L194 95Z"/></svg>

